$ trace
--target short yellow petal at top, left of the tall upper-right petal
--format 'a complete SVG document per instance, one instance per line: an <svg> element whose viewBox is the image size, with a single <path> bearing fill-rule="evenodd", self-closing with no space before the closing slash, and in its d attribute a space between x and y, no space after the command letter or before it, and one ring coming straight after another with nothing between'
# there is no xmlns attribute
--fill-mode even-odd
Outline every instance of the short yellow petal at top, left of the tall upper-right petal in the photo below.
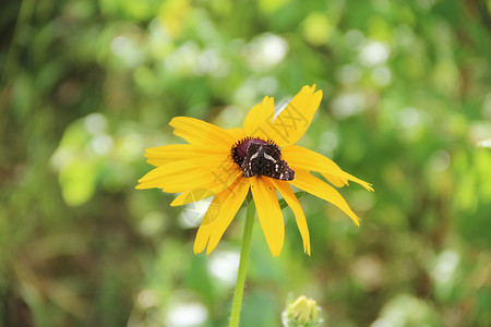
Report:
<svg viewBox="0 0 491 327"><path fill-rule="evenodd" d="M262 126L273 121L275 112L274 99L264 97L263 101L249 111L243 121L243 130L249 136L267 140Z"/></svg>

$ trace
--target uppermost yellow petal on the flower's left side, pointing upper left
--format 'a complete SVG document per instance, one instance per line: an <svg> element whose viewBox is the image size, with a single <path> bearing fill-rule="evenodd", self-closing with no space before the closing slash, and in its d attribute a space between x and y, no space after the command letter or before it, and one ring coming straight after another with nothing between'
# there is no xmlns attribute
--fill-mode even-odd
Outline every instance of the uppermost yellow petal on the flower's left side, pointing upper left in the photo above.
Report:
<svg viewBox="0 0 491 327"><path fill-rule="evenodd" d="M173 134L195 145L229 148L236 141L228 131L194 118L176 117L169 125Z"/></svg>

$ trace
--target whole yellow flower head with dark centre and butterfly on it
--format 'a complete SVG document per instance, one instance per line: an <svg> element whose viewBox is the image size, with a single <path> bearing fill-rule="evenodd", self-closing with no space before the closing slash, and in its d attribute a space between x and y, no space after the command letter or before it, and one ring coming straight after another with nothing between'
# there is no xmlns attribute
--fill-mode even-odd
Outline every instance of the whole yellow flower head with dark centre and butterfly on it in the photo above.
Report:
<svg viewBox="0 0 491 327"><path fill-rule="evenodd" d="M242 128L231 130L193 118L173 118L173 133L188 144L146 149L148 164L156 168L139 180L136 189L181 193L171 206L215 195L194 241L194 253L206 247L206 254L216 247L250 190L273 256L279 255L285 239L277 190L294 211L303 251L310 255L306 216L290 184L331 202L357 226L359 218L343 196L310 171L320 172L337 187L354 181L373 191L371 184L343 171L331 159L294 145L312 121L321 99L322 90L315 92L315 85L303 86L275 118L273 98L265 97L249 111Z"/></svg>

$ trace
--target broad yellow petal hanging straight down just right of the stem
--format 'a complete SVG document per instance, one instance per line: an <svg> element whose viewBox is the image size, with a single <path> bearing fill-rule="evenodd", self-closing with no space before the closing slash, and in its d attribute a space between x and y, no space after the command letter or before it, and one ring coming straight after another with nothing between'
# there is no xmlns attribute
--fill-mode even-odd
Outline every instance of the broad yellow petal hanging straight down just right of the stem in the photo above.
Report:
<svg viewBox="0 0 491 327"><path fill-rule="evenodd" d="M278 256L285 241L285 222L279 208L276 191L268 178L251 178L258 217L270 246L271 254Z"/></svg>

